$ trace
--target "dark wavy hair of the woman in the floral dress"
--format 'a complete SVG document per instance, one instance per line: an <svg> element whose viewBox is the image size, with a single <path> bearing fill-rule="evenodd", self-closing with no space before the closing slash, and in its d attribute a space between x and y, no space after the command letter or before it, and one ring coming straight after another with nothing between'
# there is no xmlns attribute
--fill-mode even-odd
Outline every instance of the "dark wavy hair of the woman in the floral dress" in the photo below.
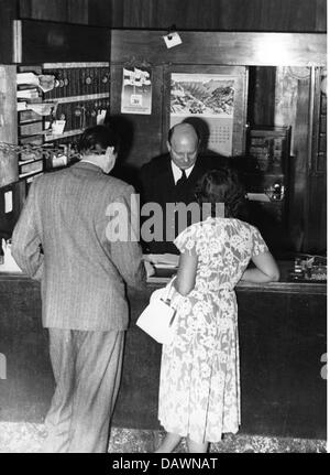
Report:
<svg viewBox="0 0 330 475"><path fill-rule="evenodd" d="M216 217L217 203L224 204L226 217L246 217L245 190L237 172L230 168L207 172L197 185L196 198L200 206L204 203L211 204L212 217Z"/></svg>

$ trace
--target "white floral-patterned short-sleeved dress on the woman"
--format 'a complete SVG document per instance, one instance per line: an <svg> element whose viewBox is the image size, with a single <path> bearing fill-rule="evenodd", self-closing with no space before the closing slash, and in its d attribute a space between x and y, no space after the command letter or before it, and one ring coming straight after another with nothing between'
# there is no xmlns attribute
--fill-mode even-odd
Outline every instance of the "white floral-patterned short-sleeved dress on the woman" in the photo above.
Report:
<svg viewBox="0 0 330 475"><path fill-rule="evenodd" d="M240 425L238 307L234 287L252 256L267 251L258 230L208 218L175 240L198 257L196 284L176 294L176 336L163 346L158 419L167 432L219 442Z"/></svg>

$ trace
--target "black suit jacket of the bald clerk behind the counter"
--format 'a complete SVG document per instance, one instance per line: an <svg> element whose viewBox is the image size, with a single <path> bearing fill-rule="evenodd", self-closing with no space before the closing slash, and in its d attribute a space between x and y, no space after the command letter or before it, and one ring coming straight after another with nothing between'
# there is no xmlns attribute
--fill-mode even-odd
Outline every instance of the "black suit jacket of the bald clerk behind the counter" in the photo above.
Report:
<svg viewBox="0 0 330 475"><path fill-rule="evenodd" d="M141 168L139 182L142 204L158 203L164 213L163 240L144 242L146 251L152 253L178 253L178 249L174 246L173 239L168 239L165 233L166 204L185 203L189 205L196 202L195 191L198 181L208 170L218 169L227 164L227 158L222 156L198 156L186 184L179 190L175 186L169 154L157 156ZM170 217L167 216L167 218ZM187 225L189 226L189 224L188 216ZM173 235L176 237L179 228L174 224Z"/></svg>

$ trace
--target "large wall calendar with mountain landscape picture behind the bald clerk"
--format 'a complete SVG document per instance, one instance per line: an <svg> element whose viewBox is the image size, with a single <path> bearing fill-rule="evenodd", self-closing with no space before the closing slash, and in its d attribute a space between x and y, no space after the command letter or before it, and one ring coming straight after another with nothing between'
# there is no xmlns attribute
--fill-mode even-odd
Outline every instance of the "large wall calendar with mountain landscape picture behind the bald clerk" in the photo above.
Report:
<svg viewBox="0 0 330 475"><path fill-rule="evenodd" d="M169 126L189 117L205 122L202 137L208 150L232 154L234 76L172 74Z"/></svg>

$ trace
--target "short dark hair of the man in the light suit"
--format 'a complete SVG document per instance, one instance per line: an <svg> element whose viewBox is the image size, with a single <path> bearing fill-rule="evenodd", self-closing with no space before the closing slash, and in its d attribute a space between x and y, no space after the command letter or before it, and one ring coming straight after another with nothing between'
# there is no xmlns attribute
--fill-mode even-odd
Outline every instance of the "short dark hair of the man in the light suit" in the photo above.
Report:
<svg viewBox="0 0 330 475"><path fill-rule="evenodd" d="M113 147L114 152L119 149L119 137L113 129L107 126L95 126L86 129L78 142L79 153L101 152L108 147Z"/></svg>

